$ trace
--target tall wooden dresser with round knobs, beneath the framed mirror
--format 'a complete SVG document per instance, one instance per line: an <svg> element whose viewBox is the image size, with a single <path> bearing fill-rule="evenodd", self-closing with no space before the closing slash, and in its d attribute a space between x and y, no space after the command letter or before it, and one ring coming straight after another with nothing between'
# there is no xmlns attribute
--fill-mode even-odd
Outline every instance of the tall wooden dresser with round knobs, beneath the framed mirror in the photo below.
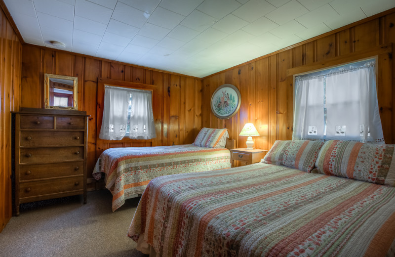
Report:
<svg viewBox="0 0 395 257"><path fill-rule="evenodd" d="M86 204L86 112L22 108L15 128L14 214L19 204L83 194Z"/></svg>

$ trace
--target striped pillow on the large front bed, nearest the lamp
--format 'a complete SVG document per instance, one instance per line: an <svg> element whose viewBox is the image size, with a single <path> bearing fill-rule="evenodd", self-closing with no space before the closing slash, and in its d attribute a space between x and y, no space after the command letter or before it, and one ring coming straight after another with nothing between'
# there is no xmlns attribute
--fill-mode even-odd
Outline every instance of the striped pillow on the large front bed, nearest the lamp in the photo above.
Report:
<svg viewBox="0 0 395 257"><path fill-rule="evenodd" d="M310 140L276 140L262 162L310 172L323 144L321 141Z"/></svg>

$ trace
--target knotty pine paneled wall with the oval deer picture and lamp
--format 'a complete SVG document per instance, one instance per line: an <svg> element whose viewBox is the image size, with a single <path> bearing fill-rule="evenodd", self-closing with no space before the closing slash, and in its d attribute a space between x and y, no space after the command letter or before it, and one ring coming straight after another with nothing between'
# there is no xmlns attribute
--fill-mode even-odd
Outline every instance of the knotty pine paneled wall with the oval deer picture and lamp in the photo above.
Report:
<svg viewBox="0 0 395 257"><path fill-rule="evenodd" d="M237 139L238 147L246 147L246 137L239 138L238 133L247 122L253 123L261 135L254 138L256 148L270 149L277 139L292 139L293 77L287 75L287 70L318 63L325 66L334 60L350 61L346 60L350 55L357 59L369 51L372 56L377 55L374 49L382 51L378 46L391 48L395 43L394 24L395 9L392 9L382 16L367 18L203 78L203 127L229 129L231 137ZM379 55L377 65L378 101L386 143L395 143L395 65L392 56L391 52ZM229 120L217 119L210 110L211 94L222 84L233 84L241 93L240 109Z"/></svg>

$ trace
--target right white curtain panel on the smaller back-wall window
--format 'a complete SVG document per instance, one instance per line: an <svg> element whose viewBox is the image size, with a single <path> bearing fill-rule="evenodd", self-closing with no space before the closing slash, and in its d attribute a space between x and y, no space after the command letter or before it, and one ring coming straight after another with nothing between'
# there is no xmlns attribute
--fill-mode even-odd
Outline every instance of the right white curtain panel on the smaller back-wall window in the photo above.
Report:
<svg viewBox="0 0 395 257"><path fill-rule="evenodd" d="M156 137L152 93L148 90L131 91L132 106L130 113L129 137L151 139Z"/></svg>

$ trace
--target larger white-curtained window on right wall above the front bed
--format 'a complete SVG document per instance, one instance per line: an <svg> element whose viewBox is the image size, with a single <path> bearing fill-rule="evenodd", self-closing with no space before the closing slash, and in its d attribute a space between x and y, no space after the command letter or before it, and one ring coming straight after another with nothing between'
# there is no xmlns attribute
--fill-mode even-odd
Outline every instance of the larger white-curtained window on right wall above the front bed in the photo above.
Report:
<svg viewBox="0 0 395 257"><path fill-rule="evenodd" d="M375 60L295 78L292 139L384 143Z"/></svg>

